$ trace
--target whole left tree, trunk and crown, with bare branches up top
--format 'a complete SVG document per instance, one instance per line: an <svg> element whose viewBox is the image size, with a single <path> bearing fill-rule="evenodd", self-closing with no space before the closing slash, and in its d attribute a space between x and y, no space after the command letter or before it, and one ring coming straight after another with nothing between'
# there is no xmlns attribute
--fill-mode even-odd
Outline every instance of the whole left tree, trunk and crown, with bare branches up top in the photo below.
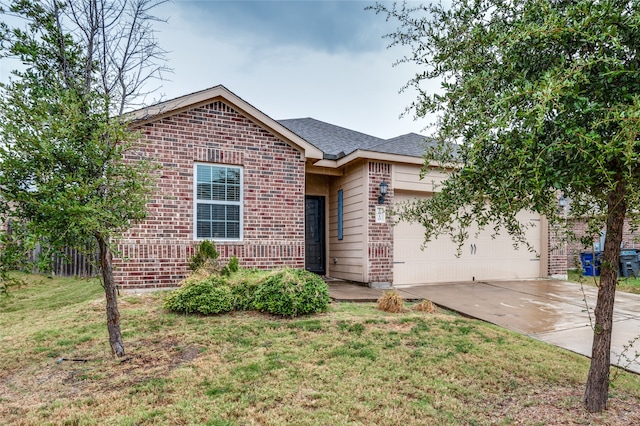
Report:
<svg viewBox="0 0 640 426"><path fill-rule="evenodd" d="M2 241L45 242L48 254L93 241L117 356L113 241L145 218L153 185L122 112L164 70L148 14L157 4L15 0L2 13L25 28L0 26L2 56L24 66L0 86L0 216L20 224Z"/></svg>

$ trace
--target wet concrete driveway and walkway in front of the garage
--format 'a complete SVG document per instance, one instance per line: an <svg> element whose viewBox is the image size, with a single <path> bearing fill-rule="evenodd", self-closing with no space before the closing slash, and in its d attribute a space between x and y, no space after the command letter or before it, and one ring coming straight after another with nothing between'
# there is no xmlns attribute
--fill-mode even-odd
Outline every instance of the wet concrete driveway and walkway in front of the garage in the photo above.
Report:
<svg viewBox="0 0 640 426"><path fill-rule="evenodd" d="M331 297L337 301L374 302L384 292L345 282L328 284ZM579 284L563 281L526 280L429 284L396 290L405 300L429 299L463 315L591 355L593 330L589 318L593 320L595 287L581 289ZM611 363L640 373L640 360L634 359L640 352L640 341L633 341L640 336L640 295L618 292L613 321ZM626 357L621 357L623 353Z"/></svg>

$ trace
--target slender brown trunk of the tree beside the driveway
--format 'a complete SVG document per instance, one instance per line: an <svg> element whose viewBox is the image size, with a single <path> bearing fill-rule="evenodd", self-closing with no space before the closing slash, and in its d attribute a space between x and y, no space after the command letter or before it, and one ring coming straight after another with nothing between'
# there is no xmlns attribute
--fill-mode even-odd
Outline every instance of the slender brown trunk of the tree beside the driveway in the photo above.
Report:
<svg viewBox="0 0 640 426"><path fill-rule="evenodd" d="M609 372L611 369L611 331L613 326L613 304L618 283L618 264L622 228L627 211L624 183L618 181L607 197L607 235L602 254L600 287L595 308L591 367L584 393L584 403L591 413L607 408Z"/></svg>

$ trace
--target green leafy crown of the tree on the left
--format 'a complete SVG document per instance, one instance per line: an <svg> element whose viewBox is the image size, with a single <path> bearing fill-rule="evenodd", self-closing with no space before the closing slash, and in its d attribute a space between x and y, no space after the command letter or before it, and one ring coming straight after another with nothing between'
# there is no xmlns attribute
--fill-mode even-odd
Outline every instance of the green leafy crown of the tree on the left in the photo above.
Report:
<svg viewBox="0 0 640 426"><path fill-rule="evenodd" d="M84 248L144 219L154 166L127 159L137 135L111 115L98 66L87 86L88 59L60 25L63 7L19 1L10 9L29 31L4 34L2 54L17 55L25 70L0 92L0 212L53 247Z"/></svg>

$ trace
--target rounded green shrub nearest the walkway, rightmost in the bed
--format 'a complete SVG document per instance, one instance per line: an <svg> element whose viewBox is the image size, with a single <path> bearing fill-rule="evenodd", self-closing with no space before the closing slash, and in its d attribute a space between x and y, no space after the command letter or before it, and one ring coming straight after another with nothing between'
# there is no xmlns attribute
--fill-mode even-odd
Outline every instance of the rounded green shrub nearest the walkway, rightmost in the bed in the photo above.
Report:
<svg viewBox="0 0 640 426"><path fill-rule="evenodd" d="M258 285L254 306L287 317L324 312L329 307L329 287L316 274L286 268Z"/></svg>

